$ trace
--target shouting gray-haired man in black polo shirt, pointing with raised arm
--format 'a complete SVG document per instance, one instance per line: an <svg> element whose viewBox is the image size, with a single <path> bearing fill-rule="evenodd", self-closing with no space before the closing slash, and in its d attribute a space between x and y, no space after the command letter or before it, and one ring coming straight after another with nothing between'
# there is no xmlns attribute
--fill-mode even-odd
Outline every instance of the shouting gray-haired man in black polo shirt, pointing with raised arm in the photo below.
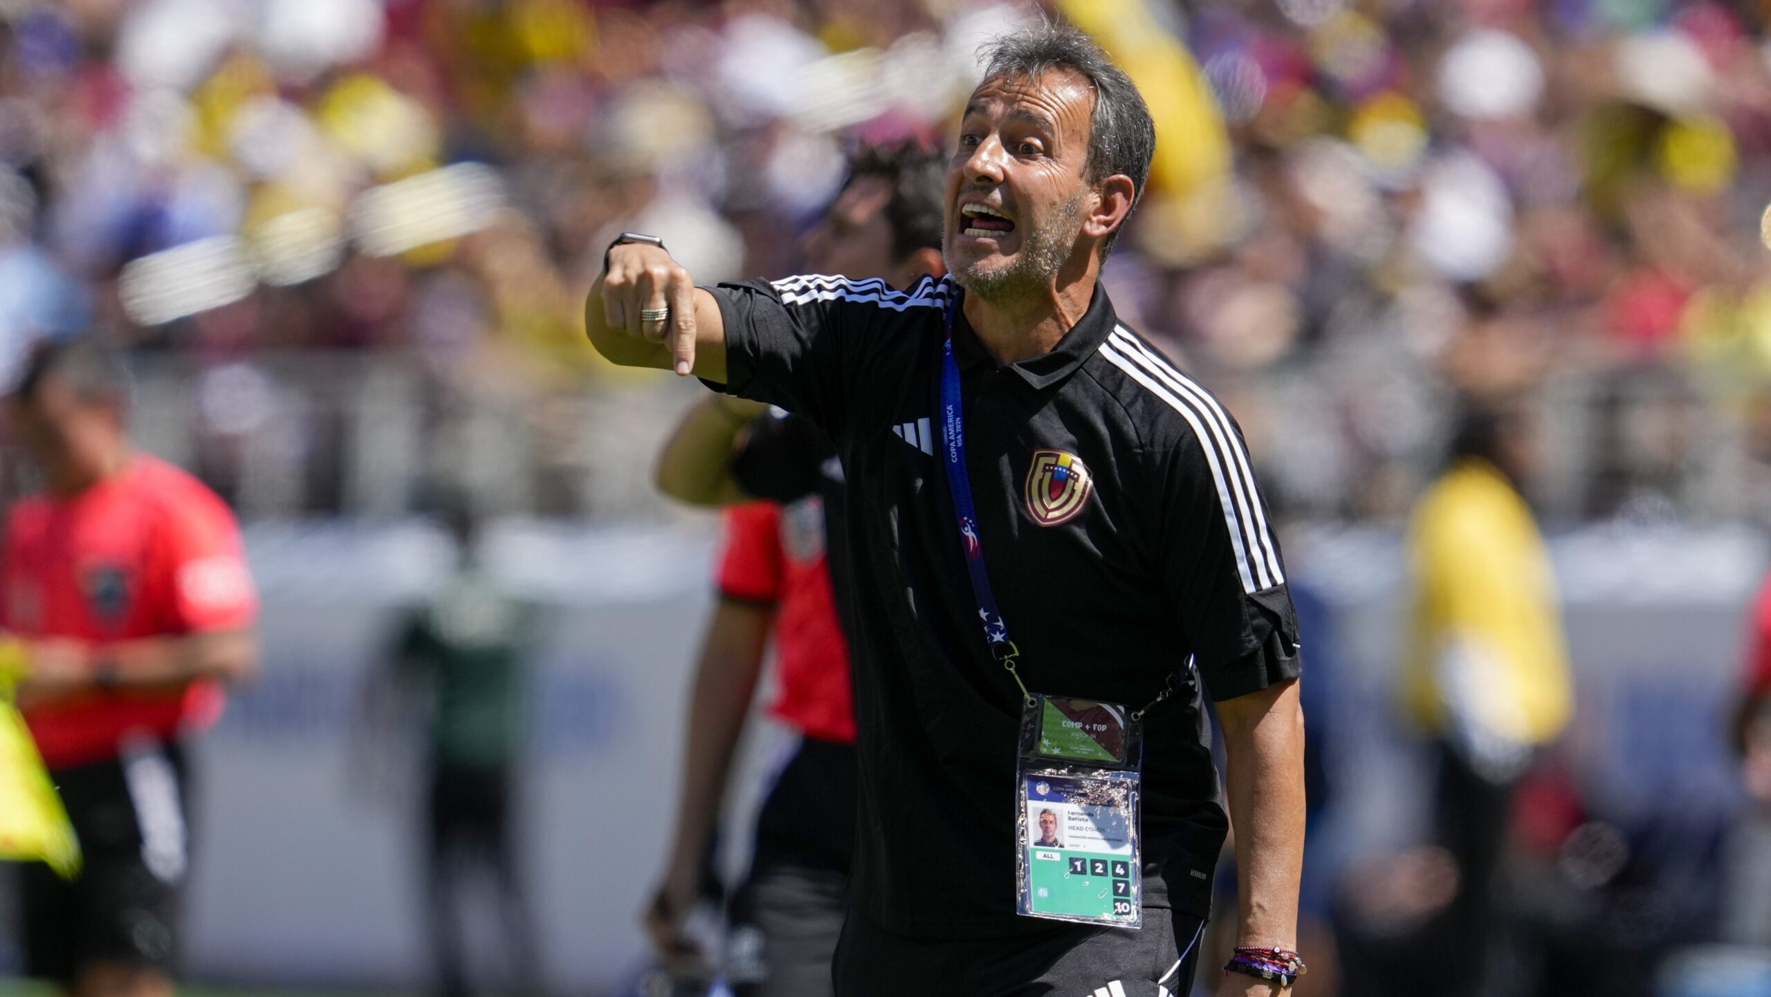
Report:
<svg viewBox="0 0 1771 997"><path fill-rule="evenodd" d="M1098 287L1153 151L1125 73L1038 25L992 46L965 108L947 278L696 289L657 239L623 234L586 301L609 359L800 413L841 455L861 763L841 995L1188 993L1226 795L1241 908L1217 993L1272 995L1302 969L1284 565L1229 414ZM1017 914L1022 684L1171 691L1144 733L1141 931Z"/></svg>

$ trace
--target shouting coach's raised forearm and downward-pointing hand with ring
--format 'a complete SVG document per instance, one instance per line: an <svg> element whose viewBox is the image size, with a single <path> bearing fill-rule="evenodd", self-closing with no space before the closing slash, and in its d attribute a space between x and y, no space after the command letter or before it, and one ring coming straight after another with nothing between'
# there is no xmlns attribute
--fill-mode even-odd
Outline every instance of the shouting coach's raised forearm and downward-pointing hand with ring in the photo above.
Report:
<svg viewBox="0 0 1771 997"><path fill-rule="evenodd" d="M668 317L646 321L648 310ZM584 301L584 333L611 363L726 381L719 305L661 246L630 243L609 250L609 269Z"/></svg>

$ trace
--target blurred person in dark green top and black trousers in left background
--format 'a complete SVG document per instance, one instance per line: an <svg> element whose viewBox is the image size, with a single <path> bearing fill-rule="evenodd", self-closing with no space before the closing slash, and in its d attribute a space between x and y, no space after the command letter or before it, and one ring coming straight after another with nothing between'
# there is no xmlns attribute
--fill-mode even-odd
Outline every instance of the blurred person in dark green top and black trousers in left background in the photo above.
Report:
<svg viewBox="0 0 1771 997"><path fill-rule="evenodd" d="M480 567L469 501L450 508L457 570L400 622L390 664L395 687L429 705L430 793L425 822L425 916L441 997L466 997L460 919L475 871L498 891L505 960L515 993L538 993L540 962L510 827L522 735L522 685L538 611Z"/></svg>

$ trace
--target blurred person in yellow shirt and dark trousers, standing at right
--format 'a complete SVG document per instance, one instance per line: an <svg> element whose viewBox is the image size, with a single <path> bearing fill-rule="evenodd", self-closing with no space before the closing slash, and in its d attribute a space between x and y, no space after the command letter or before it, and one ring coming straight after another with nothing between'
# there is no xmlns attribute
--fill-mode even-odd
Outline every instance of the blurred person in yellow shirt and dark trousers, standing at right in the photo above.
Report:
<svg viewBox="0 0 1771 997"><path fill-rule="evenodd" d="M1410 526L1413 606L1403 708L1435 742L1438 843L1459 887L1440 919L1449 997L1482 993L1514 786L1567 726L1574 694L1555 579L1520 494L1537 460L1518 406L1470 406Z"/></svg>

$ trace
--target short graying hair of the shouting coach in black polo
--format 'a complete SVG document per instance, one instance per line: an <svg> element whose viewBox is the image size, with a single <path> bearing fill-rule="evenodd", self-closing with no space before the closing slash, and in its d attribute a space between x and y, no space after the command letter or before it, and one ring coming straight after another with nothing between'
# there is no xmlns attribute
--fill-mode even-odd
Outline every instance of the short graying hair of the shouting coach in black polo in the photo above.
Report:
<svg viewBox="0 0 1771 997"><path fill-rule="evenodd" d="M1070 69L1094 87L1094 113L1089 120L1089 159L1084 177L1096 184L1114 174L1132 177L1132 205L1144 197L1149 161L1156 154L1156 124L1149 119L1144 96L1114 66L1107 51L1087 32L1054 19L1040 19L1015 34L1002 35L983 50L985 80L1029 76L1038 80L1052 69ZM1132 214L1126 213L1126 218ZM1125 221L1119 223L1125 228ZM1102 257L1112 250L1119 228L1107 234Z"/></svg>

